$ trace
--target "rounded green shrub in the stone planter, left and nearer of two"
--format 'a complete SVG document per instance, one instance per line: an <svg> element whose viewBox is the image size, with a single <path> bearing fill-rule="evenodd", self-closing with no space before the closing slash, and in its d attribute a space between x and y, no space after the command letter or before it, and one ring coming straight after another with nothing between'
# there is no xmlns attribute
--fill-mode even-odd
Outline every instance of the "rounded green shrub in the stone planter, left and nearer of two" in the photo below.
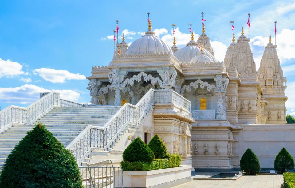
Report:
<svg viewBox="0 0 295 188"><path fill-rule="evenodd" d="M153 151L139 137L124 150L123 160L128 162L152 162L155 159Z"/></svg>

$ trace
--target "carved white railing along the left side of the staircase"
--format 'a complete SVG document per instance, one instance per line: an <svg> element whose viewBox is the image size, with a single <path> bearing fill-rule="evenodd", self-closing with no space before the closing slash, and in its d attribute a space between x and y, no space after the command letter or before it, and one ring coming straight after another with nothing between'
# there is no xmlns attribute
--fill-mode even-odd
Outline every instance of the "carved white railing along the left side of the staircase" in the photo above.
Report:
<svg viewBox="0 0 295 188"><path fill-rule="evenodd" d="M60 106L62 104L62 106ZM60 99L58 92L50 92L28 107L9 106L0 111L0 132L12 123L32 124L53 107L83 106L80 103Z"/></svg>

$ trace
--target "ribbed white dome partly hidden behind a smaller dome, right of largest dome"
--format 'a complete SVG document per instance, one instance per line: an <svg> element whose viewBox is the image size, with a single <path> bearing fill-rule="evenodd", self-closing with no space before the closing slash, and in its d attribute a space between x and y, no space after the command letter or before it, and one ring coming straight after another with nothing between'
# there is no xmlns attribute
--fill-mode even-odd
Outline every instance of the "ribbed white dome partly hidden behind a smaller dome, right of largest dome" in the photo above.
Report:
<svg viewBox="0 0 295 188"><path fill-rule="evenodd" d="M211 59L209 62L216 62L214 56L207 51L206 49L203 49L205 54ZM191 40L187 43L187 45L183 48L180 48L178 51L174 53L174 56L182 63L188 63L191 62L191 59L197 56L200 52L198 43L196 43L194 40Z"/></svg>

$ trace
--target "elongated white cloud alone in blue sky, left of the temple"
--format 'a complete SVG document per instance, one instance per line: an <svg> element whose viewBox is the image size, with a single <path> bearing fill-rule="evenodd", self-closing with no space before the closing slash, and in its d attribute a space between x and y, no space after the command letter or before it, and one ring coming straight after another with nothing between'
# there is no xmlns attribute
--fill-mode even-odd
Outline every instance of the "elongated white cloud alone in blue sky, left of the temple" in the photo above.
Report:
<svg viewBox="0 0 295 188"><path fill-rule="evenodd" d="M44 80L52 83L64 83L65 80L85 80L86 77L79 73L73 74L67 70L56 70L50 68L35 69L35 73L38 73Z"/></svg>

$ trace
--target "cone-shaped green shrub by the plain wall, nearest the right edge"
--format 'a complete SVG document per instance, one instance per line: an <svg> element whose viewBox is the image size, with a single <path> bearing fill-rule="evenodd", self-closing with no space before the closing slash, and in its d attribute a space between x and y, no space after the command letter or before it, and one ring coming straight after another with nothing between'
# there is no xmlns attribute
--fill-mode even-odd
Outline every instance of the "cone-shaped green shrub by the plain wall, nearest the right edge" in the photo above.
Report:
<svg viewBox="0 0 295 188"><path fill-rule="evenodd" d="M274 169L278 173L286 172L287 170L293 170L294 160L290 153L283 148L276 156L274 160Z"/></svg>

